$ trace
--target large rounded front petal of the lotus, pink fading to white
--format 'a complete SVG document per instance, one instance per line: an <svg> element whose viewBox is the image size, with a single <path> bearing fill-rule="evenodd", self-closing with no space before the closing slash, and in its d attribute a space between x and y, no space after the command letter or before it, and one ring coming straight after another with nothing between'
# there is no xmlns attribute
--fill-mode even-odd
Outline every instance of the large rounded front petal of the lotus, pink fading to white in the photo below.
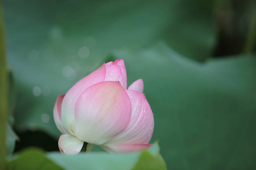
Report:
<svg viewBox="0 0 256 170"><path fill-rule="evenodd" d="M77 138L102 145L130 122L131 101L119 82L101 82L82 92L76 103Z"/></svg>

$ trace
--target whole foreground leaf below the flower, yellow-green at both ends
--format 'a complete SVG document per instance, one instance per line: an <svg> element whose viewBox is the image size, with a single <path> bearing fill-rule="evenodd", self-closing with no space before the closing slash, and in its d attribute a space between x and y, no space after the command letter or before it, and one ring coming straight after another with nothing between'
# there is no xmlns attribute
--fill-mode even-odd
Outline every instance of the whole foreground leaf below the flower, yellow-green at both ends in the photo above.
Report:
<svg viewBox="0 0 256 170"><path fill-rule="evenodd" d="M94 169L94 170L165 170L166 165L155 143L149 150L131 154L109 154L107 152L62 155L60 152L44 154L38 148L28 148L9 162L9 169ZM143 169L142 168L142 169Z"/></svg>

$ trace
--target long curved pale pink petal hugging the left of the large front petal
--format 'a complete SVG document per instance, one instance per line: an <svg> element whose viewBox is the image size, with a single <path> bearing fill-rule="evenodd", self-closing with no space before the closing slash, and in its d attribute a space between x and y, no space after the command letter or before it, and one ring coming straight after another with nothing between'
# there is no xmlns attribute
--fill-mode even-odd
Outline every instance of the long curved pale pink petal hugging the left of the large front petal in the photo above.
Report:
<svg viewBox="0 0 256 170"><path fill-rule="evenodd" d="M71 123L75 120L75 104L81 92L89 86L103 82L106 75L106 67L103 64L99 69L77 82L65 95L61 107L61 124L68 133L73 134Z"/></svg>

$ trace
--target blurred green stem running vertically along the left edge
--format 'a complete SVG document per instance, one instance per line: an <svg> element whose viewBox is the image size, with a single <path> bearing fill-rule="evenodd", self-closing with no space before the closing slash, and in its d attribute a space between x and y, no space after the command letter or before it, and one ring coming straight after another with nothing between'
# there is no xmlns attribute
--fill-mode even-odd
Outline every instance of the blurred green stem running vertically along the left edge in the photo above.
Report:
<svg viewBox="0 0 256 170"><path fill-rule="evenodd" d="M5 30L0 2L0 169L6 169L7 92Z"/></svg>

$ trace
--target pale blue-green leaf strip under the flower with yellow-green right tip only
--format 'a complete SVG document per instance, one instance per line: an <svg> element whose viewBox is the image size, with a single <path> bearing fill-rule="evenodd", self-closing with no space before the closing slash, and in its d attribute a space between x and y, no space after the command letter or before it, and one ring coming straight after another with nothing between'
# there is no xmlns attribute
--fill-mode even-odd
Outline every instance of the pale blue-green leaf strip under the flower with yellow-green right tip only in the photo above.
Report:
<svg viewBox="0 0 256 170"><path fill-rule="evenodd" d="M64 169L166 169L166 163L159 152L158 143L148 150L130 154L109 154L107 152L81 153L76 156L61 155L58 153L48 154L48 158L54 160Z"/></svg>

